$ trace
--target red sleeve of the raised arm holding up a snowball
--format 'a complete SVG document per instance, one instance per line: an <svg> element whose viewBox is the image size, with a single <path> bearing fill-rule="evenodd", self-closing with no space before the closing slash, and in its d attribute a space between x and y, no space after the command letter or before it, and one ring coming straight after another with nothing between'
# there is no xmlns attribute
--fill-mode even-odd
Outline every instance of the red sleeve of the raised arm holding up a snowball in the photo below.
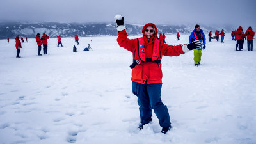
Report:
<svg viewBox="0 0 256 144"><path fill-rule="evenodd" d="M118 32L117 42L120 47L124 47L128 51L134 52L136 48L137 39L129 39L127 38L127 33L125 30Z"/></svg>

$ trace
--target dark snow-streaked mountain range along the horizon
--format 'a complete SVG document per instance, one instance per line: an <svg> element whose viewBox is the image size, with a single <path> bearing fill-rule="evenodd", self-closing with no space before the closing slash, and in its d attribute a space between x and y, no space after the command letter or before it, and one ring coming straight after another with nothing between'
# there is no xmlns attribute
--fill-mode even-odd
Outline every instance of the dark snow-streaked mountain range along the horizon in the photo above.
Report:
<svg viewBox="0 0 256 144"><path fill-rule="evenodd" d="M125 24L127 33L129 35L140 35L143 24ZM193 25L157 25L158 33L175 34L179 33L188 34L193 31ZM231 33L235 26L201 26L205 35L209 31L225 30L225 33ZM22 24L22 23L1 23L0 24L0 39L15 38L15 36L23 36L28 38L34 38L36 33L46 33L50 37L56 37L61 35L62 37L78 36L100 36L100 35L118 35L115 24L108 23L37 23L37 24Z"/></svg>

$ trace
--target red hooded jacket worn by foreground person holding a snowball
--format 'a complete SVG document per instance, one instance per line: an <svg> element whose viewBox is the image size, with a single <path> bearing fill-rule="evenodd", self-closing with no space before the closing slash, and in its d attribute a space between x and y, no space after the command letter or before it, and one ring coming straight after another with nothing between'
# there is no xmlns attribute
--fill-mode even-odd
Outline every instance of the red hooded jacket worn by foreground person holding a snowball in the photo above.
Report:
<svg viewBox="0 0 256 144"><path fill-rule="evenodd" d="M148 40L147 36L145 35L145 29L148 26L152 26L155 29L155 33L150 37ZM153 56L153 48L154 42L157 39L157 28L155 24L148 23L146 24L143 29L143 40L145 46L145 58L152 58ZM133 60L139 59L139 52L138 52L138 40L137 39L129 39L127 38L127 33L125 30L118 32L117 42L120 47L124 47L128 51L132 52ZM159 47L159 58L161 60L162 56L179 56L180 54L184 54L182 51L182 45L172 46L163 44L160 42ZM152 62L145 62L136 65L132 68L132 81L137 83L145 83L147 81L148 84L150 83L162 83L162 65L161 63L152 63Z"/></svg>

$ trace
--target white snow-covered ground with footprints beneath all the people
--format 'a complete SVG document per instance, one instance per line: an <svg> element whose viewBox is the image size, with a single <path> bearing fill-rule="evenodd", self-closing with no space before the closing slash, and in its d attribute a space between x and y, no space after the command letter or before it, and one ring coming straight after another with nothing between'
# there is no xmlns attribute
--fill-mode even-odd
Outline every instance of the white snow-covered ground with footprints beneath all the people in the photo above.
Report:
<svg viewBox="0 0 256 144"><path fill-rule="evenodd" d="M188 37L166 35L166 42ZM239 52L230 34L223 44L207 40L199 67L193 51L163 57L161 98L173 128L162 134L154 112L138 129L132 54L116 38L79 37L78 52L74 38L62 38L64 47L50 38L43 56L33 38L22 44L22 58L15 40L0 40L0 143L256 143L256 52L246 41ZM89 42L93 51L83 51Z"/></svg>

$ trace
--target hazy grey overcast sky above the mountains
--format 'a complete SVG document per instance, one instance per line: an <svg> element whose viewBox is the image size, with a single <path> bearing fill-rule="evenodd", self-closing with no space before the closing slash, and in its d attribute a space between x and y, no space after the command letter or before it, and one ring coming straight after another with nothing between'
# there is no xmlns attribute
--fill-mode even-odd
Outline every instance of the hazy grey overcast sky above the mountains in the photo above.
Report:
<svg viewBox="0 0 256 144"><path fill-rule="evenodd" d="M0 22L114 22L256 26L255 0L0 0Z"/></svg>

